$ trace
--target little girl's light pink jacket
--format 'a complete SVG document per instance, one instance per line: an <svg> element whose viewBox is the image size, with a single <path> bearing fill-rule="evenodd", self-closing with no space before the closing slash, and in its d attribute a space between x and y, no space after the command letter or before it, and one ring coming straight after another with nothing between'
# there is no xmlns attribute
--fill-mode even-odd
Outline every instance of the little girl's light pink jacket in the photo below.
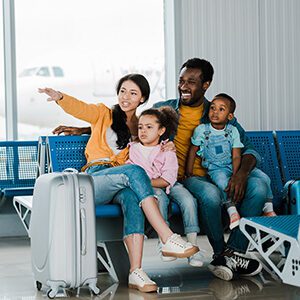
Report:
<svg viewBox="0 0 300 300"><path fill-rule="evenodd" d="M129 144L129 160L127 164L135 164L142 167L150 179L163 178L170 185L167 187L166 192L169 193L177 180L178 161L176 153L173 151L163 152L160 145L155 146L150 153L149 159L145 157L138 148L138 143L133 142Z"/></svg>

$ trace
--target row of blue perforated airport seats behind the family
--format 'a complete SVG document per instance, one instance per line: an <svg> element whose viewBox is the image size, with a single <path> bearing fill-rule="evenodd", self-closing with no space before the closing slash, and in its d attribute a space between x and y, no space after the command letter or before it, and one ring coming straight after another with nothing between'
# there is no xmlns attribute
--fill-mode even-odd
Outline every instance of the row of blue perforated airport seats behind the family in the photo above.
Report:
<svg viewBox="0 0 300 300"><path fill-rule="evenodd" d="M274 206L282 209L284 183L300 177L300 131L246 132L262 157L261 169L269 175ZM39 141L0 141L0 194L6 197L32 195L37 176L65 168L80 170L89 136L49 136ZM100 206L97 214L109 213ZM108 210L108 211L107 211ZM117 205L110 211L121 214Z"/></svg>

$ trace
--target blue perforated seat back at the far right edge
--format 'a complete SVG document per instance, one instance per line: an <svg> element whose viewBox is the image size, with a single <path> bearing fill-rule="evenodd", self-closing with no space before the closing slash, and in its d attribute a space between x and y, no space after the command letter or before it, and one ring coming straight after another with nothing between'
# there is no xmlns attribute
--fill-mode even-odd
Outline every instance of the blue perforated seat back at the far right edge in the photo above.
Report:
<svg viewBox="0 0 300 300"><path fill-rule="evenodd" d="M284 181L300 177L300 130L276 131Z"/></svg>

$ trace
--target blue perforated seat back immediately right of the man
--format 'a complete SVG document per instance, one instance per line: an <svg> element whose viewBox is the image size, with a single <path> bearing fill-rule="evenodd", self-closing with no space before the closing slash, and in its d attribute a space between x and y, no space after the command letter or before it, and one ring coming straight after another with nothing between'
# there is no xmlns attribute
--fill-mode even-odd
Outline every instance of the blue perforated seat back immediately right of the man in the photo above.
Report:
<svg viewBox="0 0 300 300"><path fill-rule="evenodd" d="M283 182L273 132L247 131L246 135L250 138L253 146L261 156L261 165L259 168L271 179L271 188L274 196L273 204L275 209L279 209L282 204Z"/></svg>

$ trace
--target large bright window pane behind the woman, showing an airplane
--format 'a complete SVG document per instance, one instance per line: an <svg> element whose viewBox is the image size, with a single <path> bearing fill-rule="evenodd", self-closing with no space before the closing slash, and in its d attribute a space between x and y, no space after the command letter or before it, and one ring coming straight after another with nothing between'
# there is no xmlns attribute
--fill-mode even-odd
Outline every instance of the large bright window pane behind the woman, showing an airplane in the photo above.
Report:
<svg viewBox="0 0 300 300"><path fill-rule="evenodd" d="M151 84L148 106L164 98L163 1L15 0L15 9L19 139L88 125L39 87L111 106L118 79L139 72Z"/></svg>

